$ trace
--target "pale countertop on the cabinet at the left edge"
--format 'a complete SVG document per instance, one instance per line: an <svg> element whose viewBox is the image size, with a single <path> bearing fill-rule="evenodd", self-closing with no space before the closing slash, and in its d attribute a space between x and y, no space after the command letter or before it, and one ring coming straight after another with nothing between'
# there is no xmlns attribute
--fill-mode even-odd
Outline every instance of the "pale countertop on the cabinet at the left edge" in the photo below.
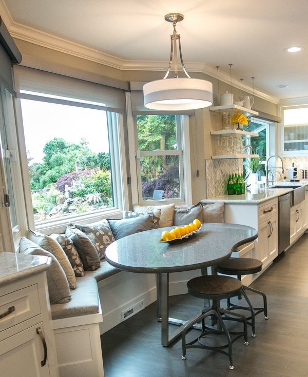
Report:
<svg viewBox="0 0 308 377"><path fill-rule="evenodd" d="M4 251L0 253L0 285L45 271L50 263L51 258L48 256Z"/></svg>

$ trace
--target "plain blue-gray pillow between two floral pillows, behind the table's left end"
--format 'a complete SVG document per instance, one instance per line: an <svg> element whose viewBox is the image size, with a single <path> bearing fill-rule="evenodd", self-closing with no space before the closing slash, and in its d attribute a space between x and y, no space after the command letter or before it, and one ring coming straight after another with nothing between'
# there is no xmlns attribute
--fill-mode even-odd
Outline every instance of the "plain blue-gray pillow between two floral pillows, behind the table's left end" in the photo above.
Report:
<svg viewBox="0 0 308 377"><path fill-rule="evenodd" d="M132 219L108 219L108 222L115 240L119 240L120 238L133 233L155 229L153 224L153 216L149 214L132 217Z"/></svg>

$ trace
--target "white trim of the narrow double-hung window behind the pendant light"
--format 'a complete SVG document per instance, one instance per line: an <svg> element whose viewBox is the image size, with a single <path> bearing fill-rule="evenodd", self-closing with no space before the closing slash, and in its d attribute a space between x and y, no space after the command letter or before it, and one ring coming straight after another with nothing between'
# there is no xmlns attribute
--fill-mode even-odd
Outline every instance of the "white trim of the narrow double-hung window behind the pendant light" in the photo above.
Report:
<svg viewBox="0 0 308 377"><path fill-rule="evenodd" d="M182 155L182 162L180 161L180 180L183 180L184 199L162 199L162 200L148 200L140 202L139 186L138 186L138 168L136 164L137 135L136 126L134 124L134 117L131 108L131 95L126 93L126 116L128 129L128 145L129 145L129 161L130 161L130 182L131 182L131 196L132 204L139 205L162 205L168 203L176 203L177 205L190 205L192 203L191 190L191 165L190 165L190 142L189 142L189 116L182 115L180 123L181 127L181 149L182 151L144 151L140 152L142 155ZM179 153L180 152L180 153ZM181 165L183 164L183 168ZM183 171L183 174L182 174ZM182 175L182 176L181 176Z"/></svg>

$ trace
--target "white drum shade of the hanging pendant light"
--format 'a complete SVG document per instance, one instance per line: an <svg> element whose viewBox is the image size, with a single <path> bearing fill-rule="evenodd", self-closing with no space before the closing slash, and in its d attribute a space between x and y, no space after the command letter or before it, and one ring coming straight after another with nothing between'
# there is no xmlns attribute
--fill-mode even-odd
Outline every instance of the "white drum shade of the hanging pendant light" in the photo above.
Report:
<svg viewBox="0 0 308 377"><path fill-rule="evenodd" d="M213 104L213 84L198 78L165 78L145 84L143 97L148 109L200 109Z"/></svg>

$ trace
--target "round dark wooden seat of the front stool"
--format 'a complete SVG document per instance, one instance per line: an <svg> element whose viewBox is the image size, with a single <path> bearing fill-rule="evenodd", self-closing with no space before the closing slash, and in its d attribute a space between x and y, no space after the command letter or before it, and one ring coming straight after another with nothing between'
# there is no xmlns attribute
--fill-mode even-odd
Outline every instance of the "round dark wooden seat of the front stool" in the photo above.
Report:
<svg viewBox="0 0 308 377"><path fill-rule="evenodd" d="M198 276L187 282L188 293L204 299L221 300L236 296L242 288L240 280L228 276Z"/></svg>

